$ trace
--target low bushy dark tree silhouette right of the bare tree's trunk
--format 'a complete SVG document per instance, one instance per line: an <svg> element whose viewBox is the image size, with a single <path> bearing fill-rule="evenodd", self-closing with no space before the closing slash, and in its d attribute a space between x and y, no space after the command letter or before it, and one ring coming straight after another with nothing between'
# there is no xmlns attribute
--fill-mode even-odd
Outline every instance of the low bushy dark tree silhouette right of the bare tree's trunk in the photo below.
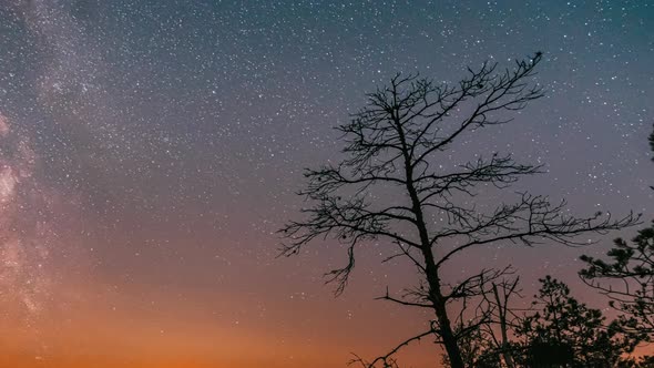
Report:
<svg viewBox="0 0 654 368"><path fill-rule="evenodd" d="M602 311L589 308L570 295L569 287L551 276L540 279L532 306L515 314L504 326L479 328L460 343L466 367L471 368L612 368L638 367L635 359L623 358L633 351L638 336L624 333L616 321L606 324ZM515 288L517 282L509 284ZM495 288L497 289L497 288ZM515 293L500 293L508 297ZM490 299L498 295L491 290ZM505 298L500 305L508 306ZM518 315L517 313L520 313ZM489 321L484 327L497 326ZM444 359L450 366L449 359ZM643 362L641 362L643 364Z"/></svg>

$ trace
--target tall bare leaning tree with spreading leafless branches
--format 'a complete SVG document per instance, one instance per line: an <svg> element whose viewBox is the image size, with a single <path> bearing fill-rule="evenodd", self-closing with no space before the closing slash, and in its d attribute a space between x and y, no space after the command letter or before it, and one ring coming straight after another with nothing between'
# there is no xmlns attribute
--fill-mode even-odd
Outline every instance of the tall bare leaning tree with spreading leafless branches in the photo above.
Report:
<svg viewBox="0 0 654 368"><path fill-rule="evenodd" d="M347 264L327 274L340 294L355 267L355 251L370 241L388 241L397 249L389 258L411 262L421 283L405 296L382 298L433 311L425 331L368 367L388 364L402 346L421 338L442 344L451 367L464 366L458 341L472 328L454 331L451 309L479 294L486 272L448 284L441 269L460 254L500 243L581 245L586 243L578 242L578 235L603 234L635 222L632 214L617 219L601 213L574 217L564 213L565 203L552 204L529 193L483 212L470 201L479 186L505 188L521 176L540 173L541 166L519 164L511 154L499 153L451 170L438 165L438 160L452 160L444 152L454 141L511 121L508 113L543 95L530 83L541 59L539 52L503 71L487 62L468 69L468 76L454 85L397 74L389 85L368 94L366 106L350 122L337 127L344 135L345 159L305 172L307 184L299 194L310 206L302 209L304 219L280 229L287 238L282 255L296 254L316 238L333 237L347 245Z"/></svg>

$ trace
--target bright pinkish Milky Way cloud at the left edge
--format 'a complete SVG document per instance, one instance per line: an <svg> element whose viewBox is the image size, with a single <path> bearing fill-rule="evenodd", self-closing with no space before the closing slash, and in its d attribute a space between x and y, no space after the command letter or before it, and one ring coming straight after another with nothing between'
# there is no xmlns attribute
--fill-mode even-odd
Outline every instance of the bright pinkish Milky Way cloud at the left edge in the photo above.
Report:
<svg viewBox="0 0 654 368"><path fill-rule="evenodd" d="M43 214L49 197L33 177L37 157L29 141L12 132L0 113L0 295L6 310L19 303L25 321L48 297L48 262L52 229ZM9 301L9 304L8 304Z"/></svg>

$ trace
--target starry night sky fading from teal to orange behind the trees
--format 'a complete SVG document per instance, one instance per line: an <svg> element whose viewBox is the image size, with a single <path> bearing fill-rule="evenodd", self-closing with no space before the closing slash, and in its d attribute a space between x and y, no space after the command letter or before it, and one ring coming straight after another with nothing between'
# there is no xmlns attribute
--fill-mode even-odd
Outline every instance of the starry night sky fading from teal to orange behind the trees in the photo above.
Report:
<svg viewBox="0 0 654 368"><path fill-rule="evenodd" d="M396 72L457 82L542 51L546 96L449 164L513 153L548 171L518 188L648 221L653 34L644 0L0 0L0 366L330 368L419 331L374 300L416 280L386 244L338 298L338 244L276 258L302 168L340 157L333 126ZM511 263L602 306L581 253L489 246L447 276Z"/></svg>

